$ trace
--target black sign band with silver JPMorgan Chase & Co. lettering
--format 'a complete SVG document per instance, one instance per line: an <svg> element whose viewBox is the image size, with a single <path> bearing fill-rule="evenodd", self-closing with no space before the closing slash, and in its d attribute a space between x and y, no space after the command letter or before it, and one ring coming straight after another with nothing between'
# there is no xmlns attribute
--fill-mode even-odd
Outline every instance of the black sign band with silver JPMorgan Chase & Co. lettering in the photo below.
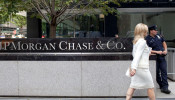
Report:
<svg viewBox="0 0 175 100"><path fill-rule="evenodd" d="M130 52L131 38L1 39L0 52Z"/></svg>

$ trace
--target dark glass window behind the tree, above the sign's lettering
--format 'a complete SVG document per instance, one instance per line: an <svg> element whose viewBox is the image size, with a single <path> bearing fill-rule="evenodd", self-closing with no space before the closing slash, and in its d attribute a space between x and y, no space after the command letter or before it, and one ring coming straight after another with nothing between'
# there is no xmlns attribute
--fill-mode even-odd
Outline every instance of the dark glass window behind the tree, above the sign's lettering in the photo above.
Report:
<svg viewBox="0 0 175 100"><path fill-rule="evenodd" d="M43 35L46 37L46 23L42 22ZM104 36L104 15L79 15L58 24L56 38L97 38Z"/></svg>

